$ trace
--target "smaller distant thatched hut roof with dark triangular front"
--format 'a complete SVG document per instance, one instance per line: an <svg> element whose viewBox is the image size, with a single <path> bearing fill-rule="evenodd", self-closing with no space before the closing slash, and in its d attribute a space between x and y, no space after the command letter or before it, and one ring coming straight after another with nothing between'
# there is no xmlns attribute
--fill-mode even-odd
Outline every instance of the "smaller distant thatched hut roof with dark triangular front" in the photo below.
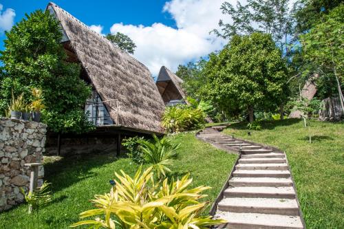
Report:
<svg viewBox="0 0 344 229"><path fill-rule="evenodd" d="M156 85L164 102L170 100L185 100L186 95L182 89L183 80L171 72L167 67L162 66L156 80Z"/></svg>

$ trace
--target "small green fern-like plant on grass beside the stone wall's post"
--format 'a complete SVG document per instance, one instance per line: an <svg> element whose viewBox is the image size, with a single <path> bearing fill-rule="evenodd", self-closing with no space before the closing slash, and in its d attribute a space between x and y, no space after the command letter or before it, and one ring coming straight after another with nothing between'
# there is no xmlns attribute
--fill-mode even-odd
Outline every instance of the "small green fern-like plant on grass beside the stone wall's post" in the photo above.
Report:
<svg viewBox="0 0 344 229"><path fill-rule="evenodd" d="M44 182L41 187L37 187L34 192L25 193L25 190L21 188L21 193L25 197L25 201L29 204L29 214L32 211L39 211L39 208L46 206L52 201L52 194L49 190L51 183Z"/></svg>

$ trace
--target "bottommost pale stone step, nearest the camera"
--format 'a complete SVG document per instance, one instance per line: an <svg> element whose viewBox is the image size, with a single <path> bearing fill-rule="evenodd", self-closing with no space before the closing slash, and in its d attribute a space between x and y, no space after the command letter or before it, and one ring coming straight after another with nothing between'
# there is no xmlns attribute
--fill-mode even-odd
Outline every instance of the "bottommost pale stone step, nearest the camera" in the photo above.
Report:
<svg viewBox="0 0 344 229"><path fill-rule="evenodd" d="M217 228L231 229L302 229L299 216L267 215L259 213L217 212L217 218L225 219L228 223Z"/></svg>

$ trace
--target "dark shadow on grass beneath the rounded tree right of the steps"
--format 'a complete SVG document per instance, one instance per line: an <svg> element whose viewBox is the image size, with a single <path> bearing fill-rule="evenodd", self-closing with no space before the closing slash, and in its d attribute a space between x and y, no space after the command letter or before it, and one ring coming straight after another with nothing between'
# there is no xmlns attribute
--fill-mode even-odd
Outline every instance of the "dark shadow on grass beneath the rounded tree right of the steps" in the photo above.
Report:
<svg viewBox="0 0 344 229"><path fill-rule="evenodd" d="M289 126L297 122L300 122L299 118L289 118L285 120L261 120L259 121L259 124L261 124L261 129L264 130L264 129L275 129L275 127L280 127L280 126ZM247 127L247 124L248 122L237 122L237 123L230 124L228 128L250 131Z"/></svg>

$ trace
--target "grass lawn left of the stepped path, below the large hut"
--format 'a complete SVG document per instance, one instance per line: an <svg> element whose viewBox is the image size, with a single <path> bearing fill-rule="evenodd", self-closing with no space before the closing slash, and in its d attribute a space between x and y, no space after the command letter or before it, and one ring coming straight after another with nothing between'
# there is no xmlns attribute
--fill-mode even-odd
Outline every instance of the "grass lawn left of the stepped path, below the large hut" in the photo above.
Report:
<svg viewBox="0 0 344 229"><path fill-rule="evenodd" d="M193 186L212 186L204 201L213 201L222 188L236 155L219 151L195 138L195 133L171 135L174 142L182 143L175 164L171 166L174 176L191 173ZM88 199L94 194L107 193L111 188L109 179L120 169L133 175L138 168L128 158L116 159L111 154L66 157L50 160L45 165L45 178L52 182L53 202L42 208L39 219L27 214L28 206L22 204L0 213L0 228L68 228L78 221L78 213L92 208Z"/></svg>

